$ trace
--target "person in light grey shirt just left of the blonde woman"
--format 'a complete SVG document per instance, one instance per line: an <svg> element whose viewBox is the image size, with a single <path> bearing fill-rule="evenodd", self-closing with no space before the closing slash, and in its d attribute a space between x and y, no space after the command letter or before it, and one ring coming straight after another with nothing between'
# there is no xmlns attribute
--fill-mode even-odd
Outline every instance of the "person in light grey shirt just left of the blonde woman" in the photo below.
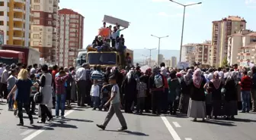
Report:
<svg viewBox="0 0 256 140"><path fill-rule="evenodd" d="M11 70L11 76L8 77L7 79L7 90L8 90L8 93L11 92L11 89L15 86L15 83L16 83L16 70ZM13 110L13 105L14 105L14 99L12 97L13 94L11 94L8 99L8 110Z"/></svg>

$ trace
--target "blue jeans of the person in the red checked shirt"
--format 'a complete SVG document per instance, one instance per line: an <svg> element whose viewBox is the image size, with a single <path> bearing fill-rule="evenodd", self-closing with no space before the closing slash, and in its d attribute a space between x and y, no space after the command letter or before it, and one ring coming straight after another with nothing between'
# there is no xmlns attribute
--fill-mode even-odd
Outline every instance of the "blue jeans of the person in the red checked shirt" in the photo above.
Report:
<svg viewBox="0 0 256 140"><path fill-rule="evenodd" d="M59 109L61 110L61 116L65 114L65 102L66 102L66 94L56 95L56 116L59 116Z"/></svg>

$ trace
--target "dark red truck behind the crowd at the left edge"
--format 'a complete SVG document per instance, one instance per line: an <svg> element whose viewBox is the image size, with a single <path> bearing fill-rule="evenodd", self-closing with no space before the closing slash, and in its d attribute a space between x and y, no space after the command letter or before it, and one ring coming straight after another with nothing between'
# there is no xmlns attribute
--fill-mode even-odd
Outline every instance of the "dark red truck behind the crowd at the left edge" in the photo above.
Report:
<svg viewBox="0 0 256 140"><path fill-rule="evenodd" d="M23 52L24 53L24 60L23 64L26 64L27 66L33 65L33 64L40 64L40 52L37 51L35 48L25 48L22 46L16 46L16 45L2 45L0 47L0 50L8 50L9 52L12 51L13 53ZM10 55L13 56L13 55ZM11 58L11 57L5 57L5 58ZM12 59L19 59L18 57L12 58ZM11 63L13 64L13 63Z"/></svg>

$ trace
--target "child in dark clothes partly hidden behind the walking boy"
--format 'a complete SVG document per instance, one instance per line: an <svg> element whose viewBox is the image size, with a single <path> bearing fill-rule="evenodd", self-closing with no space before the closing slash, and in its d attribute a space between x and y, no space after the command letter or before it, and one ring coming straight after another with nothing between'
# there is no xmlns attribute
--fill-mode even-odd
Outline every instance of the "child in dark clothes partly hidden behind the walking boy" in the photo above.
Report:
<svg viewBox="0 0 256 140"><path fill-rule="evenodd" d="M110 98L112 85L108 84L107 82L103 83L103 87L101 89L101 109L104 107L104 104L107 103L107 101ZM108 110L109 106L104 107L104 111Z"/></svg>

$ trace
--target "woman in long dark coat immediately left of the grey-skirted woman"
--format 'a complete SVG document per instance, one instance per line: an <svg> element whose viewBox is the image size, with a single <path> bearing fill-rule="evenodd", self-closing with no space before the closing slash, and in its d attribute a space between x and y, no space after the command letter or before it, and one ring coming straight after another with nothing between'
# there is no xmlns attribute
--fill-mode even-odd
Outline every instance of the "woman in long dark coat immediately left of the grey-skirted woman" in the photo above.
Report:
<svg viewBox="0 0 256 140"><path fill-rule="evenodd" d="M188 104L190 100L190 88L192 83L192 70L189 69L187 74L181 79L181 99L179 109L182 114L187 114Z"/></svg>

